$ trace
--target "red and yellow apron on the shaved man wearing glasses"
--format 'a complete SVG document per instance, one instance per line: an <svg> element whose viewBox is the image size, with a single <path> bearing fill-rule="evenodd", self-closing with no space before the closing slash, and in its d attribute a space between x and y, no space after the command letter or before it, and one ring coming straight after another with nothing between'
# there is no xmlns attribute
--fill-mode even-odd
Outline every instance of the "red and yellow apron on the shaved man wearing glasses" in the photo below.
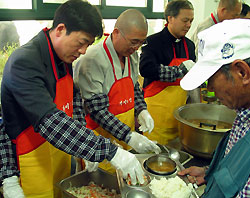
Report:
<svg viewBox="0 0 250 198"><path fill-rule="evenodd" d="M108 37L107 37L108 38ZM113 59L111 56L111 53L106 45L106 40L103 42L103 48L109 58L109 61L111 63L111 66L113 68L113 73L114 73L114 79L115 82L110 88L110 91L108 93L109 97L109 107L108 110L110 113L114 114L115 117L117 117L121 122L124 124L128 125L131 127L131 130L134 130L135 126L135 120L134 120L134 83L131 78L131 66L130 66L130 60L129 57L127 58L128 60L128 71L129 74L127 77L121 78L117 80L116 74L115 74L115 67L113 64ZM102 135L106 138L111 138L112 140L115 140L117 143L123 146L123 148L128 149L129 146L125 144L123 141L117 140L112 134L109 132L105 131L102 127L100 127L95 121L93 121L90 118L90 115L88 114L86 116L86 122L87 122L87 127L94 130L95 134L97 135ZM105 170L108 170L104 168L101 164L107 164L106 161L103 163L100 163L99 167L102 167ZM113 172L113 171L111 171Z"/></svg>

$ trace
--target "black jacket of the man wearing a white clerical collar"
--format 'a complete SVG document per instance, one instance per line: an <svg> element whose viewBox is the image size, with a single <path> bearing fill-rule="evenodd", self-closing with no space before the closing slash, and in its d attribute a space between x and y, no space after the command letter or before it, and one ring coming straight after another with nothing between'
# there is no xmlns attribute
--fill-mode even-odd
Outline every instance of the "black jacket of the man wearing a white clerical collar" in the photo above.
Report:
<svg viewBox="0 0 250 198"><path fill-rule="evenodd" d="M195 61L195 45L187 37L185 39L189 59ZM140 56L140 74L144 77L143 87L159 80L160 65L168 66L174 57L173 45L175 46L176 58L186 58L183 41L175 41L176 38L170 34L167 27L147 38L148 44L142 47Z"/></svg>

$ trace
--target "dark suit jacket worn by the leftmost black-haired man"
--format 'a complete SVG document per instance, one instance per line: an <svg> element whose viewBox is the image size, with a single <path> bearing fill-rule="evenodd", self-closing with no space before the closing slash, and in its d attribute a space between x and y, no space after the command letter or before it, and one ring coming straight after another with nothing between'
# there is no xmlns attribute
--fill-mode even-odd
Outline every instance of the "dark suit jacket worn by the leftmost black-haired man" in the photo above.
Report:
<svg viewBox="0 0 250 198"><path fill-rule="evenodd" d="M54 53L55 58L57 57ZM58 59L58 58L56 58ZM64 64L56 60L59 78L66 74ZM69 66L72 75L72 66ZM56 79L47 39L43 31L9 57L1 86L1 103L6 132L15 139L28 126L35 129L48 113L56 111L53 102Z"/></svg>

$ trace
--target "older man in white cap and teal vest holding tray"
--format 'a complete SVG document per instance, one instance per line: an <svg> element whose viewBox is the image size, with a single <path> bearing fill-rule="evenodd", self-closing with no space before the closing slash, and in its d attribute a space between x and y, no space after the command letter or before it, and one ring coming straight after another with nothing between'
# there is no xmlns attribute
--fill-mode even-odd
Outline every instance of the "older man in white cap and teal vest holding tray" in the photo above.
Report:
<svg viewBox="0 0 250 198"><path fill-rule="evenodd" d="M198 37L198 62L180 85L193 90L208 80L208 90L237 116L209 169L193 166L179 174L196 177L198 185L206 183L202 197L250 197L250 20L225 20Z"/></svg>

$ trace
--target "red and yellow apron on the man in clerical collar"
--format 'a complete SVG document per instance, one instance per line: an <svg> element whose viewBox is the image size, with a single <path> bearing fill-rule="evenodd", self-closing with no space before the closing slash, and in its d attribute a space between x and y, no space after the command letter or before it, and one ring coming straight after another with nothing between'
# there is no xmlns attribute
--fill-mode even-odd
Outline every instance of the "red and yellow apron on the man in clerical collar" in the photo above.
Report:
<svg viewBox="0 0 250 198"><path fill-rule="evenodd" d="M187 58L176 58L173 46L174 58L169 66L179 66L183 61L189 59L186 40L182 40ZM148 111L155 124L153 131L150 134L144 133L144 135L166 145L168 141L178 136L177 121L173 112L177 107L186 103L187 92L180 87L180 79L175 82L153 81L143 90Z"/></svg>

